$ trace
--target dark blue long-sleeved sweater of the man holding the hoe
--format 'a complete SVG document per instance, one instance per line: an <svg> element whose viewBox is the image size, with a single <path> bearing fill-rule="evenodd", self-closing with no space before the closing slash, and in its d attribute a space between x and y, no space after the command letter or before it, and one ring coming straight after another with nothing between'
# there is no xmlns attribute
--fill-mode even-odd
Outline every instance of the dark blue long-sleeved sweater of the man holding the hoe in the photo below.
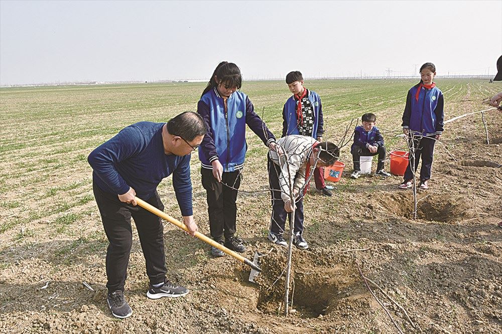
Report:
<svg viewBox="0 0 502 334"><path fill-rule="evenodd" d="M123 128L88 156L92 179L103 191L122 195L129 187L148 201L160 182L173 175L173 188L182 216L192 216L191 154L166 154L162 141L165 123L139 122Z"/></svg>

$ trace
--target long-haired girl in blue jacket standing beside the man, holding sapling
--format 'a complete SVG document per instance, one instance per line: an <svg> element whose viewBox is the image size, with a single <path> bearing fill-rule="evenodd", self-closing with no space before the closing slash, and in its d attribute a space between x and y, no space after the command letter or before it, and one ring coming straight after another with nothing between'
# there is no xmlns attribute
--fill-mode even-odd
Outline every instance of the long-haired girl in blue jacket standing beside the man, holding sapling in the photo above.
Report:
<svg viewBox="0 0 502 334"><path fill-rule="evenodd" d="M211 237L225 247L244 252L242 240L234 237L237 216L237 192L240 171L247 150L246 125L270 149L276 150L276 139L256 114L253 103L239 91L242 76L237 65L221 62L202 92L197 112L207 126L199 149L202 186L207 195L207 211ZM212 247L214 256L224 253Z"/></svg>

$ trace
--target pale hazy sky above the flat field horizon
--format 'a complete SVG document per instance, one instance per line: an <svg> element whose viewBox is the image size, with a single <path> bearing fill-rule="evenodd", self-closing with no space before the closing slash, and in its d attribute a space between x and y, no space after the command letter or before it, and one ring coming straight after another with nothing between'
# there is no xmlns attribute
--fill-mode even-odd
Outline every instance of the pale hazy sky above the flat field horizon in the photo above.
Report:
<svg viewBox="0 0 502 334"><path fill-rule="evenodd" d="M0 85L245 78L495 74L502 1L0 1ZM418 77L418 74L417 74Z"/></svg>

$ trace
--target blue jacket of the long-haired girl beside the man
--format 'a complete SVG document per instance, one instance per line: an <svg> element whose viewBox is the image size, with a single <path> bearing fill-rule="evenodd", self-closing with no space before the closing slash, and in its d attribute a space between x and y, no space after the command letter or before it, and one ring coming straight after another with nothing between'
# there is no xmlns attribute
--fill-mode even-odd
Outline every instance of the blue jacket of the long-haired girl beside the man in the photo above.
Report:
<svg viewBox="0 0 502 334"><path fill-rule="evenodd" d="M207 127L199 148L202 168L212 169L211 162L219 159L223 172L240 170L247 150L246 124L266 145L275 141L272 132L256 114L253 103L240 91L228 97L225 108L216 88L209 90L200 98L197 113Z"/></svg>

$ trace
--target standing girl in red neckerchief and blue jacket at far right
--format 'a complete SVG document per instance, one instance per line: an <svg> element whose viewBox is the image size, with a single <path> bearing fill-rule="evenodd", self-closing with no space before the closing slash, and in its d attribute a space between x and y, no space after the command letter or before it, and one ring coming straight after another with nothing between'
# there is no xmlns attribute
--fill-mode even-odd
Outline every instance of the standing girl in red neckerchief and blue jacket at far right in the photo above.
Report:
<svg viewBox="0 0 502 334"><path fill-rule="evenodd" d="M432 63L425 63L420 67L420 75L422 77L420 83L408 91L402 126L404 134L414 134L414 171L417 171L420 158L422 158L419 188L425 190L429 189L427 183L431 178L434 144L443 133L444 99L443 93L432 81L436 76L436 66ZM404 181L399 188L411 188L412 180L413 172L408 163Z"/></svg>

